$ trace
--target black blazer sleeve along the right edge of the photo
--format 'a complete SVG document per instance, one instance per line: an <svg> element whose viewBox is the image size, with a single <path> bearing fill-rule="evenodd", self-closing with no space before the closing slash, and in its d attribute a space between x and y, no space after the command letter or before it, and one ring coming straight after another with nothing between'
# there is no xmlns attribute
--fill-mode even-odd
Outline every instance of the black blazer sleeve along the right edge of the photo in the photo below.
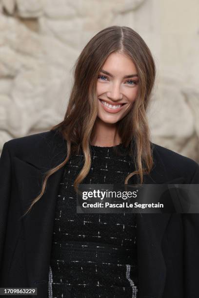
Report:
<svg viewBox="0 0 199 298"><path fill-rule="evenodd" d="M190 184L199 184L199 165ZM182 214L184 230L184 286L186 298L199 297L199 213ZM178 231L176 231L178 232Z"/></svg>

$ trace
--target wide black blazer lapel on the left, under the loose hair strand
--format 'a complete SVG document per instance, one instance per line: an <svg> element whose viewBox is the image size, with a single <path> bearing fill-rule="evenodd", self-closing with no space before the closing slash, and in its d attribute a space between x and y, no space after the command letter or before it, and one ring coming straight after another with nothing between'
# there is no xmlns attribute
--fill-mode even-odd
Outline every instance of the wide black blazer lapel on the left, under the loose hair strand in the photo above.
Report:
<svg viewBox="0 0 199 298"><path fill-rule="evenodd" d="M14 158L22 214L40 193L45 171L59 165L66 157L66 145L58 137L53 146L46 144L40 151L23 160ZM48 143L49 145L49 143ZM27 274L30 287L38 288L38 297L47 297L48 270L55 218L56 199L64 167L52 174L46 191L31 211L21 220L24 225Z"/></svg>

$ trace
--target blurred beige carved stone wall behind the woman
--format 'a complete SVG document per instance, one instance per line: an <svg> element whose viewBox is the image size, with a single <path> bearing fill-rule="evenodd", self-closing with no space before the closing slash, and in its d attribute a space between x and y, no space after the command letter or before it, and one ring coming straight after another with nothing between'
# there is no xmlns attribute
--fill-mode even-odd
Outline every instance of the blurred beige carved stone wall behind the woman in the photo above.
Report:
<svg viewBox="0 0 199 298"><path fill-rule="evenodd" d="M82 48L121 25L155 58L152 141L199 162L198 16L198 0L0 0L0 148L62 120Z"/></svg>

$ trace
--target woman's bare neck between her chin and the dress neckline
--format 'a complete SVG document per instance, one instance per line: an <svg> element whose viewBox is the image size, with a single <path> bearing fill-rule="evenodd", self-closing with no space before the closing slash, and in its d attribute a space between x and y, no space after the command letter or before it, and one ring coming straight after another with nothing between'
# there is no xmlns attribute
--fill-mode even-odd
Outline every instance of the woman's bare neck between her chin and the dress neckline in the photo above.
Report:
<svg viewBox="0 0 199 298"><path fill-rule="evenodd" d="M111 147L121 143L117 125L102 122L96 119L91 145L100 147Z"/></svg>

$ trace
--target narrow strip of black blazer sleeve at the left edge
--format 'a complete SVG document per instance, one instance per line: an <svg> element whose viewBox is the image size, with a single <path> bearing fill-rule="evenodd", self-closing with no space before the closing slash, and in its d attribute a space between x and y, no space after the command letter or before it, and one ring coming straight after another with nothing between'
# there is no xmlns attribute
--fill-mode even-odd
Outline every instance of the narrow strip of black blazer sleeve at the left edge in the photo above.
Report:
<svg viewBox="0 0 199 298"><path fill-rule="evenodd" d="M6 235L7 215L11 192L11 158L8 142L3 145L0 156L0 268L3 258L3 247Z"/></svg>

